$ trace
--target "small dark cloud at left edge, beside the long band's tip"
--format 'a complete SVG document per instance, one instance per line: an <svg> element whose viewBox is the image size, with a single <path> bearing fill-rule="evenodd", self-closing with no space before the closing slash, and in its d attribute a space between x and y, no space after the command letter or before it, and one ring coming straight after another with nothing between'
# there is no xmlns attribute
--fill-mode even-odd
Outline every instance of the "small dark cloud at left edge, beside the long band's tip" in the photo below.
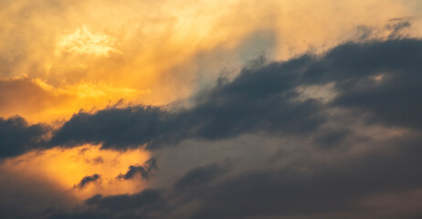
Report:
<svg viewBox="0 0 422 219"><path fill-rule="evenodd" d="M0 118L0 158L46 148L47 143L42 137L48 130L42 124L28 125L25 119L18 116Z"/></svg>

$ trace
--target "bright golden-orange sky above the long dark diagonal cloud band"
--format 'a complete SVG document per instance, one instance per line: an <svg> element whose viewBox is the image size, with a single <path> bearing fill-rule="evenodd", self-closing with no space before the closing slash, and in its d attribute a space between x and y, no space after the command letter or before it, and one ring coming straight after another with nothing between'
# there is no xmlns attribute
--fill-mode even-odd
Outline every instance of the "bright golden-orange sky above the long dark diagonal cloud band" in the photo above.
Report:
<svg viewBox="0 0 422 219"><path fill-rule="evenodd" d="M2 5L0 19L9 22L0 24L0 80L26 78L39 92L15 85L0 97L0 117L66 120L82 108L99 110L120 99L164 105L188 98L222 69L239 68L263 52L274 59L322 52L353 39L356 26L384 26L392 17L416 13L396 0L58 5ZM201 78L211 79L204 85ZM16 92L24 92L23 98L14 98Z"/></svg>

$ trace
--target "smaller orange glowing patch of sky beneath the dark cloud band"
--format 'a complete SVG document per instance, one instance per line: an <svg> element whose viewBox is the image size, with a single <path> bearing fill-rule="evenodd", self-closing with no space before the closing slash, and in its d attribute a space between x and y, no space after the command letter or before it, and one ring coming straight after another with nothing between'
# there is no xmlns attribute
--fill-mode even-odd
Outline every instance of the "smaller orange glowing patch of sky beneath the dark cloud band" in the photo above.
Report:
<svg viewBox="0 0 422 219"><path fill-rule="evenodd" d="M116 177L127 172L130 165L142 164L149 158L147 151L110 151L100 150L99 145L84 145L29 152L6 160L2 168L8 172L20 172L28 178L47 180L70 198L84 200L96 193L111 195L142 191L145 182L141 179L122 181ZM100 174L100 183L88 183L82 189L73 188L83 177L93 174Z"/></svg>

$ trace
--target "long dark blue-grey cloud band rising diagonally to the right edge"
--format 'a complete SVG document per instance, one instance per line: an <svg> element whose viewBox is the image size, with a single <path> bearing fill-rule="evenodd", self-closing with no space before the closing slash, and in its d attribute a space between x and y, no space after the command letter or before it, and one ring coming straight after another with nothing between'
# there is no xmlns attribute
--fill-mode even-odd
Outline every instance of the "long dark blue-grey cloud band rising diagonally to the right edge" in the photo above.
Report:
<svg viewBox="0 0 422 219"><path fill-rule="evenodd" d="M219 140L246 133L306 134L325 122L323 110L343 107L371 114L368 122L422 128L422 41L394 39L346 43L315 57L286 62L258 59L237 78L220 78L195 98L191 109L155 107L79 112L57 130L55 145L100 143L154 149L189 138ZM378 78L376 78L378 77ZM295 100L299 86L332 82L338 96L328 104Z"/></svg>

